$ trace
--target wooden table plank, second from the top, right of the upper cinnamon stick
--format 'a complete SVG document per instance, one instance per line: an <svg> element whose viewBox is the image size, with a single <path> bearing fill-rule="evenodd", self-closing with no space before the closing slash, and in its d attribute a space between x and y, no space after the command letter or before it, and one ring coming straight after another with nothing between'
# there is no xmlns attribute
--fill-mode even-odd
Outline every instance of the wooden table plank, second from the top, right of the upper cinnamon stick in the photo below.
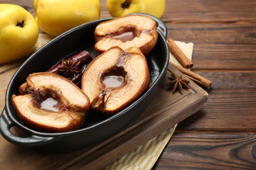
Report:
<svg viewBox="0 0 256 170"><path fill-rule="evenodd" d="M194 42L192 69L256 71L256 24L167 24L168 37Z"/></svg>

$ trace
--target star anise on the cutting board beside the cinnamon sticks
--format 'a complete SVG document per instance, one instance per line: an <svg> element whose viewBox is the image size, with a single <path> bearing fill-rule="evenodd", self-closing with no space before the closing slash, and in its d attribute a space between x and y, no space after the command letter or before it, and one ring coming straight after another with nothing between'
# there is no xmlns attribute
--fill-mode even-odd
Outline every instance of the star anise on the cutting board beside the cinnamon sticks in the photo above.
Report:
<svg viewBox="0 0 256 170"><path fill-rule="evenodd" d="M170 86L169 88L173 88L173 93L175 93L176 90L179 90L179 92L182 94L183 88L190 89L188 86L189 81L182 78L182 76L177 76L171 73L171 76L169 76L168 79L171 81L167 83L167 86Z"/></svg>

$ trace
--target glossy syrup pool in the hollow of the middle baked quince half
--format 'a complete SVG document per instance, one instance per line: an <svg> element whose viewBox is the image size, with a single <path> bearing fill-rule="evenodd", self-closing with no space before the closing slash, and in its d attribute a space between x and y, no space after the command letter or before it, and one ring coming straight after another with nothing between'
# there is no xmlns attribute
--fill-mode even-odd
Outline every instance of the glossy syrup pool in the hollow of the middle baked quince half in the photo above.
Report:
<svg viewBox="0 0 256 170"><path fill-rule="evenodd" d="M121 88L125 80L123 76L109 75L104 76L102 84L104 84L106 89Z"/></svg>

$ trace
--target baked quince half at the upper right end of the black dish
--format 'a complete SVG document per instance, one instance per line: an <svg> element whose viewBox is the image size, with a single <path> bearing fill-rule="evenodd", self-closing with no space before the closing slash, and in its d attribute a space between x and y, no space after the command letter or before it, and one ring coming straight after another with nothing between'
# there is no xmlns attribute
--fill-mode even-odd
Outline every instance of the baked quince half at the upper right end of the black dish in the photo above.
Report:
<svg viewBox="0 0 256 170"><path fill-rule="evenodd" d="M158 40L156 21L139 14L123 16L98 24L95 28L95 50L102 53L112 46L140 48L147 56Z"/></svg>

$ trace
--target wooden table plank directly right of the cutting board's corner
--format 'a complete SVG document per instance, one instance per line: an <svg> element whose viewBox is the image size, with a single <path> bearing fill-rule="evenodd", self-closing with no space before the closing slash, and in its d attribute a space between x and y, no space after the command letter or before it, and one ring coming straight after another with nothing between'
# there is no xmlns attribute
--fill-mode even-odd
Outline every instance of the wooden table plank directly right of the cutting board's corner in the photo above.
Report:
<svg viewBox="0 0 256 170"><path fill-rule="evenodd" d="M255 131L255 72L196 72L214 80L202 110L177 129L197 131Z"/></svg>

